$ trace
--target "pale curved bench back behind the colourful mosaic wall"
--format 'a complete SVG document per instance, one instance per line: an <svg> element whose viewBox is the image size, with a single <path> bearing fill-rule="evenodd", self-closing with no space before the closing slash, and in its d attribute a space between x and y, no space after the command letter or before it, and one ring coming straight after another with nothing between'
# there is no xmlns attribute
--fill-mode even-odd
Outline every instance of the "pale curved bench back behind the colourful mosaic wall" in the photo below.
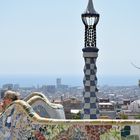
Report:
<svg viewBox="0 0 140 140"><path fill-rule="evenodd" d="M65 119L64 108L60 104L49 102L42 93L34 92L25 101L31 105L34 111L41 117L53 119Z"/></svg>

